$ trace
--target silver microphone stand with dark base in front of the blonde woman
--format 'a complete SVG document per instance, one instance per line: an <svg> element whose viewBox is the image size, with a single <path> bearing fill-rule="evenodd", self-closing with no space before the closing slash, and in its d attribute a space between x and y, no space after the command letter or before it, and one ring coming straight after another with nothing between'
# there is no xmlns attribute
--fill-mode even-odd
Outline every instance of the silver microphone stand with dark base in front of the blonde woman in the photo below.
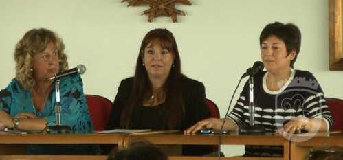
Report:
<svg viewBox="0 0 343 160"><path fill-rule="evenodd" d="M60 80L56 80L55 84L56 88L56 125L55 126L48 126L47 132L48 133L70 133L71 127L67 125L62 125L60 122Z"/></svg>

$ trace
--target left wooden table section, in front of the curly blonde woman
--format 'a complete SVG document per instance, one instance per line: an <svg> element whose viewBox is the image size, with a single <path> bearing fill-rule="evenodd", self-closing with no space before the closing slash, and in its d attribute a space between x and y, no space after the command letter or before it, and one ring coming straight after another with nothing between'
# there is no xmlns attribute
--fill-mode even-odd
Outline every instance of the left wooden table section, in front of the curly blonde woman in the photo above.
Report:
<svg viewBox="0 0 343 160"><path fill-rule="evenodd" d="M107 159L100 155L25 155L26 144L118 144L122 148L126 135L122 134L27 134L0 135L0 160L3 159Z"/></svg>

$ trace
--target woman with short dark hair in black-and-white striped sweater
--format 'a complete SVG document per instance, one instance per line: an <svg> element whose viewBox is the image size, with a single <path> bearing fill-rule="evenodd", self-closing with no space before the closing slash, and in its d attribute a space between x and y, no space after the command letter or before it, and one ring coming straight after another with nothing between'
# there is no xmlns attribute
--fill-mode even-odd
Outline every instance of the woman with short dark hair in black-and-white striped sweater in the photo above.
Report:
<svg viewBox="0 0 343 160"><path fill-rule="evenodd" d="M261 60L267 71L254 75L254 124L282 134L329 131L333 120L324 93L309 71L294 69L300 51L301 33L296 25L270 23L260 36ZM249 82L231 113L224 130L250 124ZM223 119L204 119L188 128L195 133L203 128L221 129ZM281 156L280 146L245 146L247 156Z"/></svg>

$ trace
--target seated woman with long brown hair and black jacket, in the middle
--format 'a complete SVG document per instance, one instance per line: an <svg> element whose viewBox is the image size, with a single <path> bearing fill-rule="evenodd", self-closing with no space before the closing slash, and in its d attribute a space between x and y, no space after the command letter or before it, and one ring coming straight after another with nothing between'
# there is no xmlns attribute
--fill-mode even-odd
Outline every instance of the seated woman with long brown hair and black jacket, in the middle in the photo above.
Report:
<svg viewBox="0 0 343 160"><path fill-rule="evenodd" d="M142 41L135 76L120 83L108 129L184 130L210 117L205 87L181 73L173 34L151 30ZM183 155L210 152L203 146L184 146Z"/></svg>

